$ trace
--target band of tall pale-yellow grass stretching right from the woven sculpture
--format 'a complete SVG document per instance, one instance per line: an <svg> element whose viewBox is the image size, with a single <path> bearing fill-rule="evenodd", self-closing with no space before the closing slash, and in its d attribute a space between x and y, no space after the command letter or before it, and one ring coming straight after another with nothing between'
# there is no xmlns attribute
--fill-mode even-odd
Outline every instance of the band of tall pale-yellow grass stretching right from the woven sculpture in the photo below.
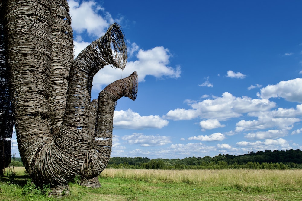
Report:
<svg viewBox="0 0 302 201"><path fill-rule="evenodd" d="M145 170L105 169L102 178L119 178L146 182L187 183L193 185L232 186L242 190L247 187L260 189L299 189L302 170ZM241 189L242 188L242 189Z"/></svg>

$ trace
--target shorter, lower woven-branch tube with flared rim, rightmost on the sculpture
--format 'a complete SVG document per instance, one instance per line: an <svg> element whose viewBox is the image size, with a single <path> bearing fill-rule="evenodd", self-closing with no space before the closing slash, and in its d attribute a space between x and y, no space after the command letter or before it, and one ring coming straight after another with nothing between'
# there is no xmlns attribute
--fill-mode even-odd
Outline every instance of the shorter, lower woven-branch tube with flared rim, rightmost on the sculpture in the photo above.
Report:
<svg viewBox="0 0 302 201"><path fill-rule="evenodd" d="M97 177L107 166L112 146L113 113L115 103L121 97L136 99L137 73L109 84L98 96L95 132L81 168L82 178Z"/></svg>

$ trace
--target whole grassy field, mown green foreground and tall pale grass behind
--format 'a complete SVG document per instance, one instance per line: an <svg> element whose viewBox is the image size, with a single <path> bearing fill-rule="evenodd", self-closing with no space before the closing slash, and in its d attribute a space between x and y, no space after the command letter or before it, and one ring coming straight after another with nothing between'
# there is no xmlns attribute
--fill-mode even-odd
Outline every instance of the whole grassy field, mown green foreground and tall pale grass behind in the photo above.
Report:
<svg viewBox="0 0 302 201"><path fill-rule="evenodd" d="M22 194L28 179L15 168L2 178L0 200L302 200L302 170L130 170L106 169L102 185L89 189L69 184L69 196ZM5 181L4 181L5 180Z"/></svg>

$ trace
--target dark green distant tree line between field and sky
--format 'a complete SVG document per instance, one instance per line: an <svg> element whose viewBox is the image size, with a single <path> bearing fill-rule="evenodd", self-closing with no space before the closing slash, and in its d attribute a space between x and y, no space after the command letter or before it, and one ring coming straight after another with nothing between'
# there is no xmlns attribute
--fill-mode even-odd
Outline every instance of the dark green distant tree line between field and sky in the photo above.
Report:
<svg viewBox="0 0 302 201"><path fill-rule="evenodd" d="M107 168L126 169L302 169L301 150L265 150L244 155L184 159L111 157Z"/></svg>

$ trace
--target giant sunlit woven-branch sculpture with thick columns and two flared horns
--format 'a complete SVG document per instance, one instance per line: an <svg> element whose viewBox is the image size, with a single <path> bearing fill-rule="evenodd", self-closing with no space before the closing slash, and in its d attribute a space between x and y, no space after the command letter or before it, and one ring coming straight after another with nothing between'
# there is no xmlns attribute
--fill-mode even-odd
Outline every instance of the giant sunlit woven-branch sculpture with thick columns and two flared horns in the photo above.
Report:
<svg viewBox="0 0 302 201"><path fill-rule="evenodd" d="M90 101L93 76L105 65L124 69L127 47L120 26L92 42L73 60L66 0L6 0L5 51L19 152L39 183L83 185L109 161L113 111L121 97L136 99L138 79L108 85ZM1 12L2 12L1 11Z"/></svg>

